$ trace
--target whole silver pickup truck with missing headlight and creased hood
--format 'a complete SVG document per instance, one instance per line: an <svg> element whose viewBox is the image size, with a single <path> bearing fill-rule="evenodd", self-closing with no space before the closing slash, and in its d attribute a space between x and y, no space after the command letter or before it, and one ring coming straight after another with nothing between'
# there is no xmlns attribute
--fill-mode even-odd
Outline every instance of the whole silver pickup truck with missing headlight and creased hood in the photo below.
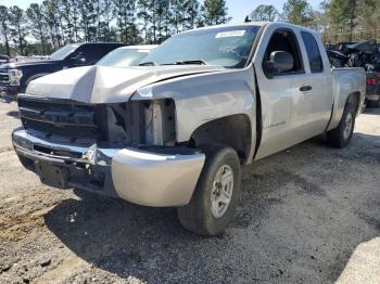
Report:
<svg viewBox="0 0 380 284"><path fill-rule="evenodd" d="M242 165L321 133L345 147L365 92L364 69L331 70L313 30L206 27L174 36L140 66L33 81L13 143L46 184L177 207L186 229L212 236L235 215Z"/></svg>

